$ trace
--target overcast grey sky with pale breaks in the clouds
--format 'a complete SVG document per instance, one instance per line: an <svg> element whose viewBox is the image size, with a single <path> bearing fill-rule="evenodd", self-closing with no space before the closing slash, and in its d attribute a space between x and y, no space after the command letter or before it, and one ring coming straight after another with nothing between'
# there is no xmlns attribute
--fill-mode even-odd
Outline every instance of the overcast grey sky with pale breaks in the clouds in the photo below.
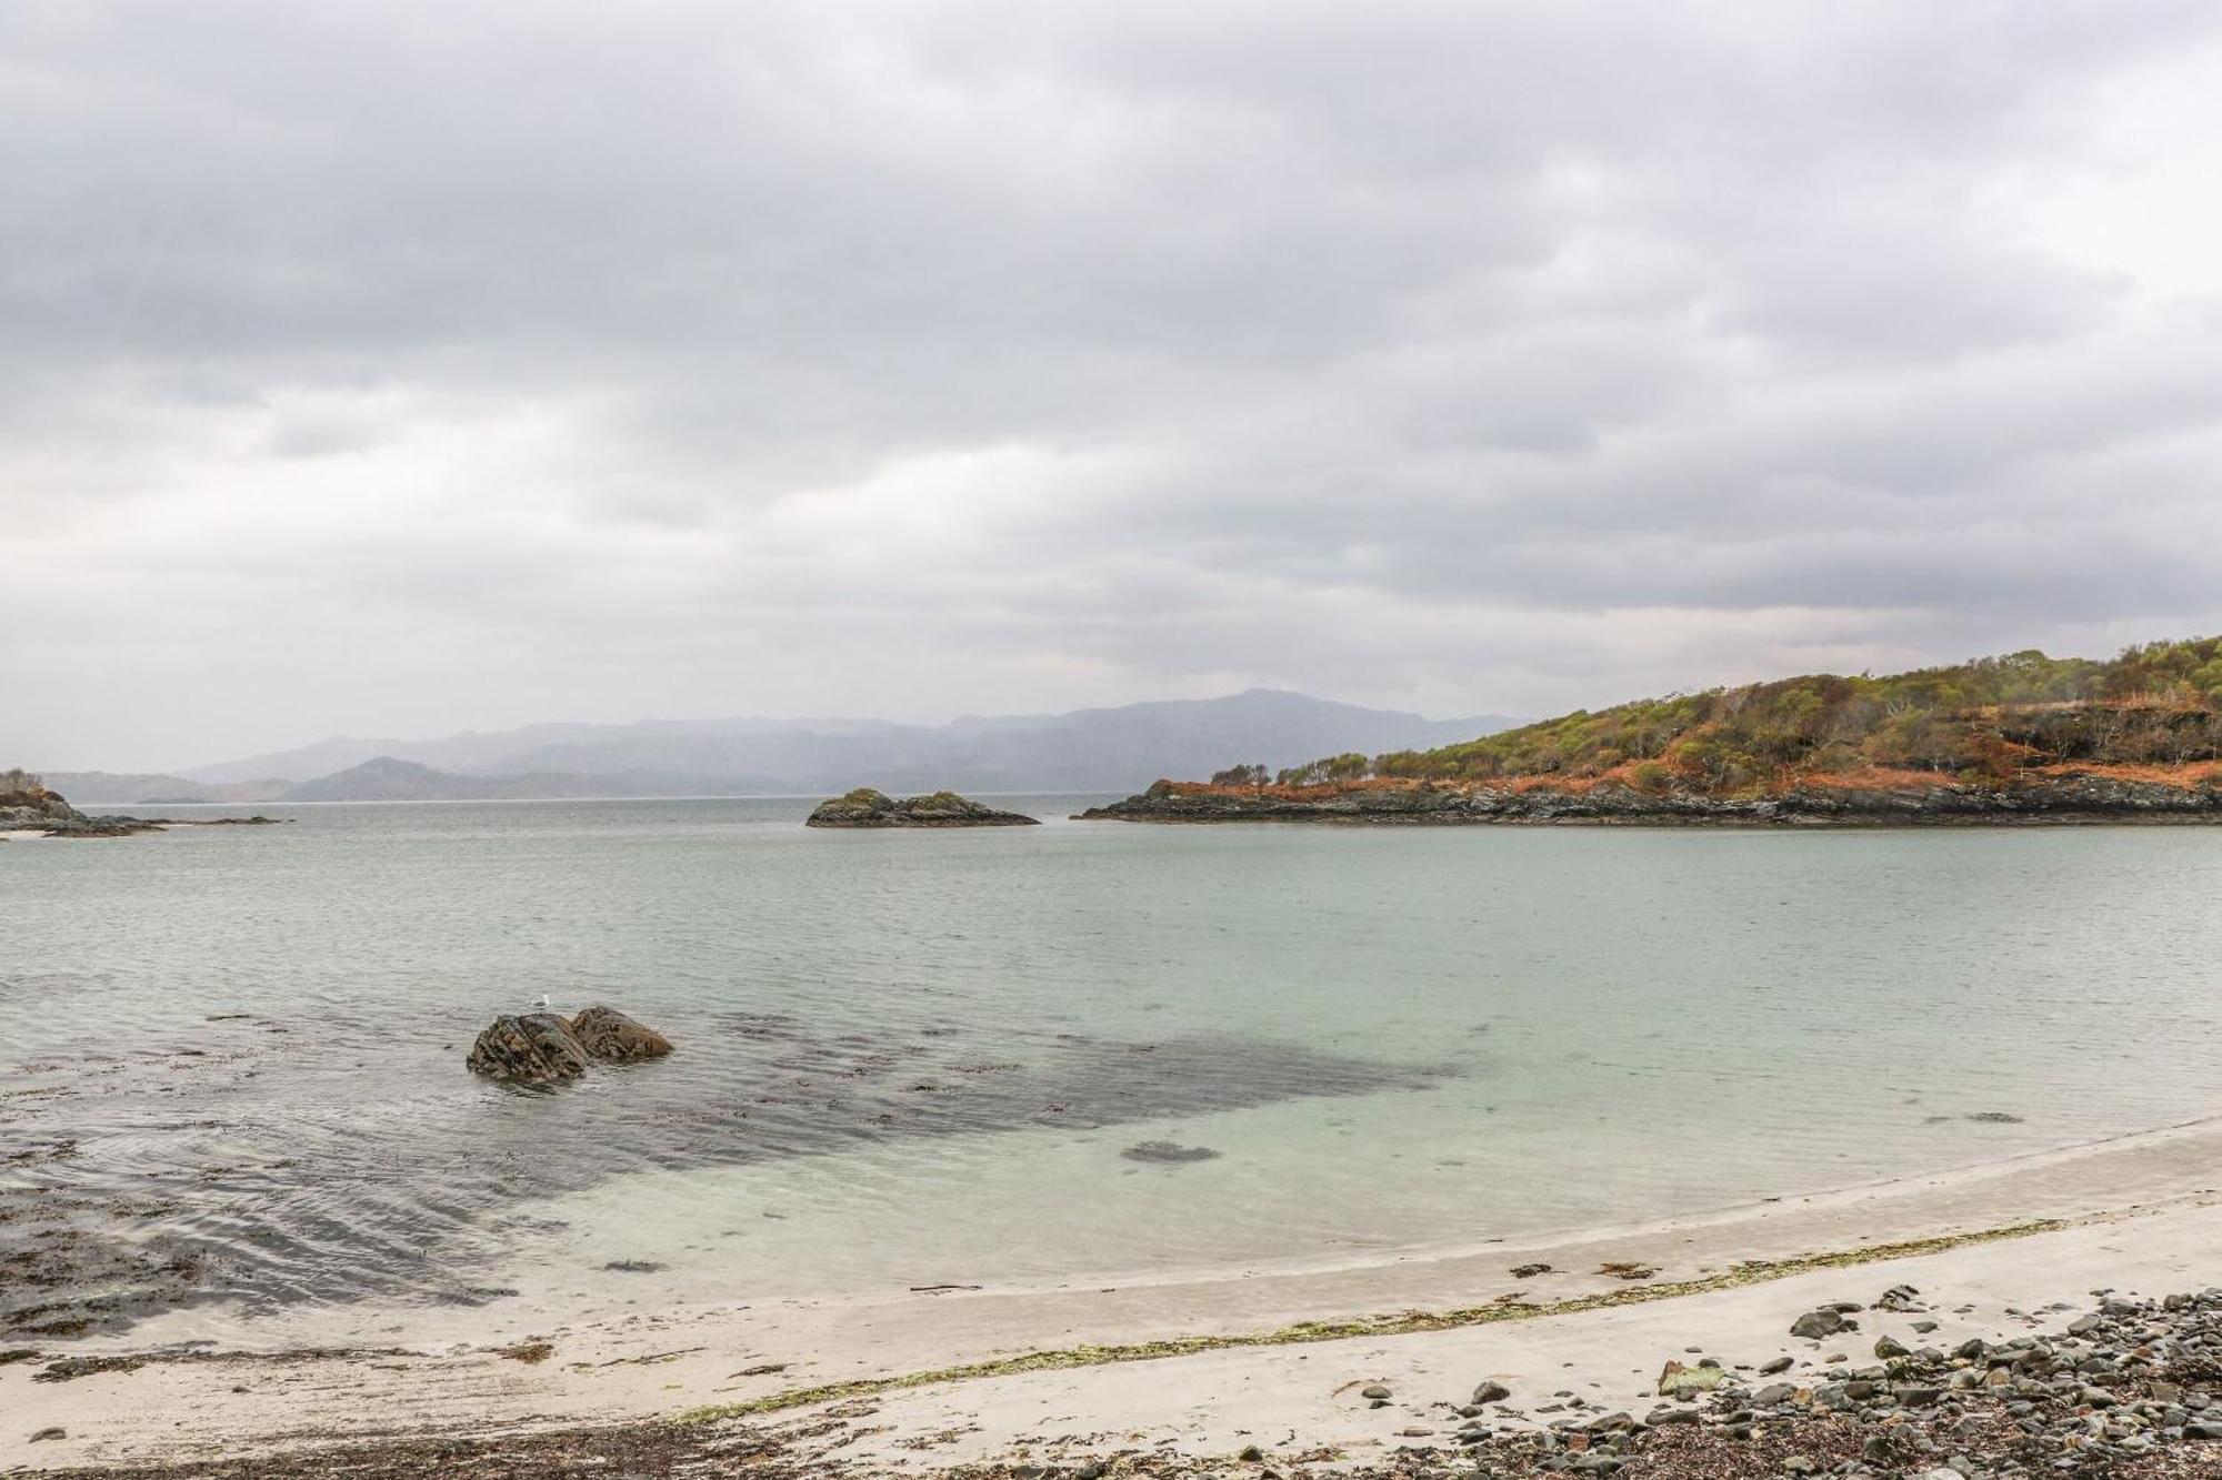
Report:
<svg viewBox="0 0 2222 1480"><path fill-rule="evenodd" d="M2222 9L0 7L0 764L2222 629Z"/></svg>

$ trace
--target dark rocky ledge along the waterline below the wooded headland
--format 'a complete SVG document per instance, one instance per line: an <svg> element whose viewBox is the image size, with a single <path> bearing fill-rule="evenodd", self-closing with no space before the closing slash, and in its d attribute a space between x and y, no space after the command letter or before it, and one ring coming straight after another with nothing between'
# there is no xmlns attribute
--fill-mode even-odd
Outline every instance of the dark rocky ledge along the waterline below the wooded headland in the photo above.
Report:
<svg viewBox="0 0 2222 1480"><path fill-rule="evenodd" d="M1629 824L1984 824L2222 822L2222 787L2115 776L2035 776L2006 784L1940 778L1929 787L1798 784L1755 798L1491 784L1209 787L1160 780L1078 813L1111 822L1629 822Z"/></svg>

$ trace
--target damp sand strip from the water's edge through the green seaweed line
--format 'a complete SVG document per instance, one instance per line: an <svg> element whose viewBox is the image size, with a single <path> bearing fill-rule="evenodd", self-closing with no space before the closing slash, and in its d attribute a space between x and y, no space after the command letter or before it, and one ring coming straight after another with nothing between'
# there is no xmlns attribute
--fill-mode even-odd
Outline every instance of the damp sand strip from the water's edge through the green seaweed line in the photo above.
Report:
<svg viewBox="0 0 2222 1480"><path fill-rule="evenodd" d="M1511 1329L1642 1324L1658 1311L1711 1302L1766 1304L1773 1298L1758 1291L1842 1280L1855 1269L1869 1271L1862 1287L1878 1289L1889 1282L1886 1267L1940 1258L1993 1273L2035 1271L2051 1249L2082 1247L2093 1229L2109 1229L2104 1238L2115 1242L2211 1251L2213 1269L2198 1282L2206 1284L2222 1280L2218 1153L2222 1122L2206 1120L1711 1216L1329 1269L642 1311L589 1327L551 1324L538 1333L547 1360L518 1358L520 1342L318 1356L198 1351L38 1384L42 1364L16 1362L0 1367L0 1407L24 1422L0 1433L0 1467L187 1464L211 1453L400 1442L402 1433L529 1436L680 1418L718 1427L891 1396L951 1416L1013 1382L1055 1382L1075 1400L1095 1393L1089 1400L1111 1402L1107 1393L1135 1384L1140 1393L1180 1387L1178 1373L1195 1364L1244 1369L1491 1342ZM2200 1233L2162 1236L2164 1227ZM1553 1269L1509 1276L1529 1262ZM1615 1264L1653 1273L1604 1273ZM89 1347L71 1351L91 1356ZM69 1438L33 1449L24 1436L42 1427L62 1427ZM882 1458L891 1462L895 1451Z"/></svg>

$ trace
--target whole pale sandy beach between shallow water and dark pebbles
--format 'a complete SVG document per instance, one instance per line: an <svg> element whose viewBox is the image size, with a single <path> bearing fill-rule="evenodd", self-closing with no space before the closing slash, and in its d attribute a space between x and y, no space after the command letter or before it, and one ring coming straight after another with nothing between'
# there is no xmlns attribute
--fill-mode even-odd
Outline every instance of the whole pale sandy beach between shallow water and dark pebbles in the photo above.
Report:
<svg viewBox="0 0 2222 1480"><path fill-rule="evenodd" d="M1893 1284L1924 1291L1938 1344L2064 1324L2100 1289L2204 1289L2222 1271L2218 1156L2222 1122L2204 1122L1704 1218L1335 1269L642 1311L591 1327L551 1316L522 1338L471 1340L464 1316L444 1340L387 1351L113 1347L100 1351L118 1367L67 1380L47 1360L60 1353L42 1353L0 1367L0 1464L276 1467L347 1444L640 1424L689 1442L747 1436L818 1473L1118 1451L1215 1464L1251 1444L1382 1462L1444 1444L1480 1380L1509 1389L1504 1420L1520 1424L1544 1420L1558 1393L1640 1413L1662 1362L1689 1353L1802 1364L1864 1356L1878 1333L1913 1340L1913 1316L1880 1313L1855 1347L1789 1336L1818 1302L1871 1304ZM1549 1271L1513 1273L1535 1264ZM53 1429L62 1436L33 1440Z"/></svg>

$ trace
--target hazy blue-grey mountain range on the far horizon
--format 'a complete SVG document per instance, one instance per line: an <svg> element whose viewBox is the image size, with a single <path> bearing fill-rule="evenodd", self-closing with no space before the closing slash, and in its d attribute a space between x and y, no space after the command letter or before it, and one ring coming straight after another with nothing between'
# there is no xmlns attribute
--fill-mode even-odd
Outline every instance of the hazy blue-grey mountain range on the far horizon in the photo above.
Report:
<svg viewBox="0 0 2222 1480"><path fill-rule="evenodd" d="M49 771L78 804L882 791L1131 791L1229 764L1429 749L1520 720L1427 720L1251 689L1055 716L527 724L442 740L318 740L176 773Z"/></svg>

